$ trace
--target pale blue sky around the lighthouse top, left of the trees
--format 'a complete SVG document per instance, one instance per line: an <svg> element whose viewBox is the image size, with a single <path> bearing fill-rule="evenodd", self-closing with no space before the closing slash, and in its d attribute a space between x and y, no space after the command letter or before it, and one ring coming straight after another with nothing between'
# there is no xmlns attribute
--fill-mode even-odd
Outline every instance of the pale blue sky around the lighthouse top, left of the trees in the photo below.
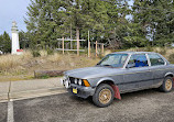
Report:
<svg viewBox="0 0 174 122"><path fill-rule="evenodd" d="M24 16L30 0L0 0L0 34L7 31L11 35L12 22L17 22L20 30L26 31Z"/></svg>

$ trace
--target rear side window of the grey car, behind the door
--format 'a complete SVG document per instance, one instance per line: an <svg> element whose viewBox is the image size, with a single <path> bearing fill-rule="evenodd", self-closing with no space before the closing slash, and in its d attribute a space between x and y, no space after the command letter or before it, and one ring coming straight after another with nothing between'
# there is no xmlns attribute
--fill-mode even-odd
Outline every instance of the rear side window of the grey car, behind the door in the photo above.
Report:
<svg viewBox="0 0 174 122"><path fill-rule="evenodd" d="M149 54L151 66L164 65L165 62L157 54Z"/></svg>

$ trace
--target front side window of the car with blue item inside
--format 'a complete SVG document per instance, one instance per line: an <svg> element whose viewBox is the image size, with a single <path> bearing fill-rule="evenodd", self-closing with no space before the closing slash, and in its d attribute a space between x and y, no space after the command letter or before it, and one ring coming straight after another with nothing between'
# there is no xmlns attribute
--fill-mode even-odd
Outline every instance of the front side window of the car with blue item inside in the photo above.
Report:
<svg viewBox="0 0 174 122"><path fill-rule="evenodd" d="M149 66L145 54L131 55L128 65L129 65L130 68Z"/></svg>

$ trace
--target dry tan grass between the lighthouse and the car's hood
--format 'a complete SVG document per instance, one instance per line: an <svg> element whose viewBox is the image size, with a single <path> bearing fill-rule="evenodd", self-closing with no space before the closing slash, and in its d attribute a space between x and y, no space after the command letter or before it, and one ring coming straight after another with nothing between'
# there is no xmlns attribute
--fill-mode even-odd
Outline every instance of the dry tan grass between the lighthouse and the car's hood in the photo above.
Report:
<svg viewBox="0 0 174 122"><path fill-rule="evenodd" d="M76 54L47 55L41 51L40 57L33 57L30 51L23 55L1 55L0 56L0 81L31 79L34 70L68 70L80 67L94 66L99 58L88 58L85 55L79 57Z"/></svg>

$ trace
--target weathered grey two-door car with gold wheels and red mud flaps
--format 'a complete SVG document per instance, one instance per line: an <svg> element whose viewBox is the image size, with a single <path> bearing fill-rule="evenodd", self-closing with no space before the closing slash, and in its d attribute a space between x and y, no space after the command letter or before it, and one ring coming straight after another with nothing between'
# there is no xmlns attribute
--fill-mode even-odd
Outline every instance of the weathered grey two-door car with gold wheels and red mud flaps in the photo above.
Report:
<svg viewBox="0 0 174 122"><path fill-rule="evenodd" d="M111 104L121 93L150 88L170 92L174 65L153 52L116 52L106 55L96 66L67 70L62 79L67 91L93 97L98 107Z"/></svg>

